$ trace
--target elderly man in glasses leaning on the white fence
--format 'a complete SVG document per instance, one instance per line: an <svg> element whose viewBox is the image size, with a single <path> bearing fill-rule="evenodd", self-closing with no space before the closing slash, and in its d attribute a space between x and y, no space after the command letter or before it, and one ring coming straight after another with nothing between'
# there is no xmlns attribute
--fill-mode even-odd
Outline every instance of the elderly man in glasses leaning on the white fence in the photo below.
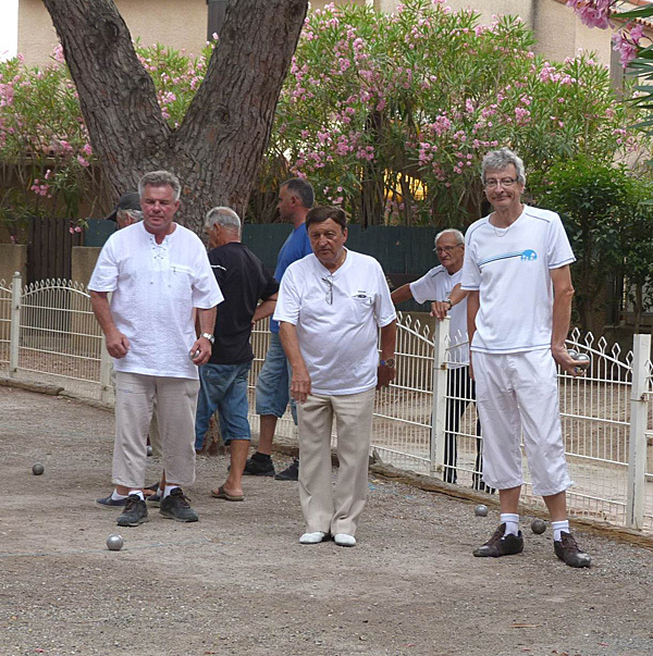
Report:
<svg viewBox="0 0 653 656"><path fill-rule="evenodd" d="M435 317L439 321L442 321L447 314L449 317L443 480L447 483L456 483L457 435L460 418L469 403L476 399L475 384L469 377L467 293L460 290L463 260L465 258L465 237L463 233L453 227L438 233L434 250L440 259L440 265L431 269L419 280L395 289L392 293L392 301L396 306L410 298L419 304L431 300L434 301L431 310L432 317ZM480 423L477 420L477 435L480 434ZM475 490L485 490L485 484L478 473L481 470L481 440L477 437L476 471L472 474Z"/></svg>

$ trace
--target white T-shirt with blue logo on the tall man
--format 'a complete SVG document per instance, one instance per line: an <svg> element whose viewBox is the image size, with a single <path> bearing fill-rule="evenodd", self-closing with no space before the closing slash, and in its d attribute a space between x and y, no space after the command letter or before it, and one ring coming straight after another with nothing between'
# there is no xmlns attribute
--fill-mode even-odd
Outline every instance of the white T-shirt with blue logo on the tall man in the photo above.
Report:
<svg viewBox="0 0 653 656"><path fill-rule="evenodd" d="M480 308L471 350L488 354L551 348L551 270L574 262L574 251L555 212L529 206L507 228L490 216L465 236L463 289L478 290Z"/></svg>

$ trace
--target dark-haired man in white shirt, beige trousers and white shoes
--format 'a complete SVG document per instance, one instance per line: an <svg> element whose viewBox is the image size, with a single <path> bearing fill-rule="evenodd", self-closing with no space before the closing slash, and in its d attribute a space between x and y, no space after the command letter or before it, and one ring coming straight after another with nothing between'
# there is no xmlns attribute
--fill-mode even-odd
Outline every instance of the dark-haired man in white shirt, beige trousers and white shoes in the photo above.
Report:
<svg viewBox="0 0 653 656"><path fill-rule="evenodd" d="M306 227L313 255L287 268L274 312L293 370L291 394L300 404L306 532L299 542L317 544L332 535L340 546L354 546L368 488L374 388L395 375L396 313L379 262L345 248L343 210L313 208ZM334 417L340 471L332 493Z"/></svg>

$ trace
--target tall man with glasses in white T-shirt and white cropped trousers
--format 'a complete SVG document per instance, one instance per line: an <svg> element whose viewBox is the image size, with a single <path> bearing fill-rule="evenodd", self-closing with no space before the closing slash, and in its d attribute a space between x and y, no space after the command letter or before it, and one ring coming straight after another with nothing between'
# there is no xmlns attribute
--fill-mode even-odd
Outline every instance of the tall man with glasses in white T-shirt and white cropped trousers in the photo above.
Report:
<svg viewBox="0 0 653 656"><path fill-rule="evenodd" d="M571 314L575 261L560 218L525 206L523 162L507 148L483 159L482 181L494 211L469 226L463 289L467 297L472 375L484 438L483 481L496 487L501 524L475 549L498 557L523 549L519 531L521 435L533 492L552 519L555 555L589 567L569 532L567 473L558 407L557 364L577 375L565 348Z"/></svg>

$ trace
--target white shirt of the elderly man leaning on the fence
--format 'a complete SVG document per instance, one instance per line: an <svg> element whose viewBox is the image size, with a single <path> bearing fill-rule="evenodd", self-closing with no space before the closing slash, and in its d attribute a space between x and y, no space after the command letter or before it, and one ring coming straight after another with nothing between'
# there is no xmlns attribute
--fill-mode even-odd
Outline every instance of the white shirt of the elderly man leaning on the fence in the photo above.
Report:
<svg viewBox="0 0 653 656"><path fill-rule="evenodd" d="M449 275L442 265L434 267L419 280L410 283L412 298L417 302L445 300L452 289L463 280L463 268ZM449 348L447 366L458 369L469 364L469 344L467 343L467 299L456 304L449 311ZM456 346L460 344L460 346Z"/></svg>

